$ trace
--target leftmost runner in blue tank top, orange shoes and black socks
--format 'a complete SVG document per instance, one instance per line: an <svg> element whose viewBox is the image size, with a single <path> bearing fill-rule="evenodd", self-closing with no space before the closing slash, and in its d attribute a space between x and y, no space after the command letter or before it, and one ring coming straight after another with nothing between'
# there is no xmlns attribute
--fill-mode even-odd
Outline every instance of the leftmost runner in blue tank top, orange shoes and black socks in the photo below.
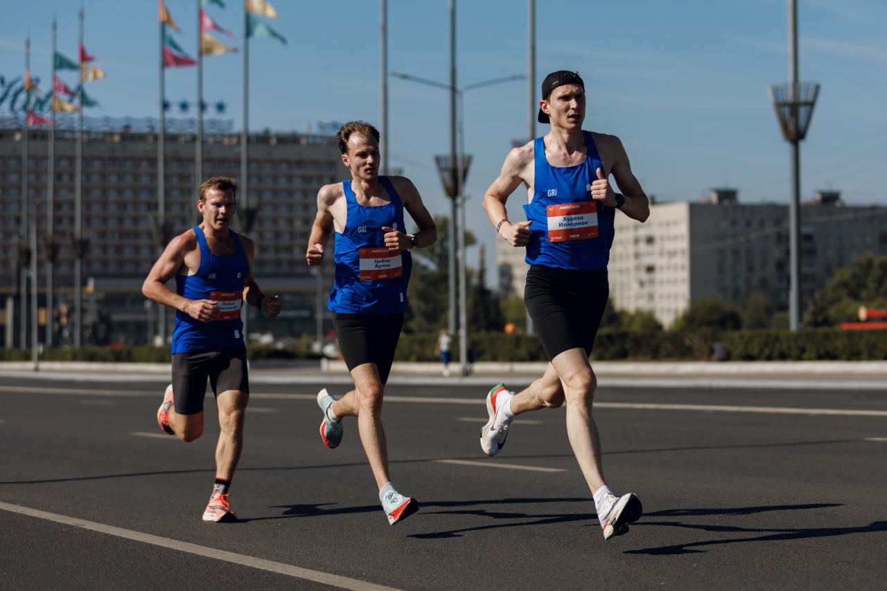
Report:
<svg viewBox="0 0 887 591"><path fill-rule="evenodd" d="M228 488L243 447L243 418L249 399L247 350L240 309L244 302L271 317L280 313L279 296L265 296L253 278L255 244L230 228L237 182L212 177L200 185L200 225L169 242L154 263L142 293L176 309L172 335L172 383L157 410L164 433L183 441L203 434L207 381L216 395L219 441L216 482L204 521L230 521ZM166 283L176 278L176 291Z"/></svg>

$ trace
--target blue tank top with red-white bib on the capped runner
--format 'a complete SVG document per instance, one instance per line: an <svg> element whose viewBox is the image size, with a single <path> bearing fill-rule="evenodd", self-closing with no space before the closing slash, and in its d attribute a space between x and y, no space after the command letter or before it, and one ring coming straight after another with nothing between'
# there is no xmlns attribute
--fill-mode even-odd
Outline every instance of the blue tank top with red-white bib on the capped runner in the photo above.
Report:
<svg viewBox="0 0 887 591"><path fill-rule="evenodd" d="M533 142L533 201L523 206L530 220L529 264L581 271L607 268L616 209L592 199L592 182L603 163L591 132L583 133L588 154L576 166L552 166L546 160L545 138Z"/></svg>

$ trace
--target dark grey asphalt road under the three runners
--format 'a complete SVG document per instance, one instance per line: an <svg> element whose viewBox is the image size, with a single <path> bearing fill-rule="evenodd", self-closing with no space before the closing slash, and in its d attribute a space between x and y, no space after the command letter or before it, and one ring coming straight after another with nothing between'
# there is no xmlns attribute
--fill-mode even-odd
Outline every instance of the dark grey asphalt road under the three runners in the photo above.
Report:
<svg viewBox="0 0 887 591"><path fill-rule="evenodd" d="M887 396L602 387L608 484L645 514L604 542L563 409L478 445L485 389L390 385L389 526L357 437L318 436L322 383L254 384L230 500L200 520L217 425L184 444L165 384L0 376L0 589L883 589ZM492 384L490 384L492 385ZM341 395L344 386L330 388Z"/></svg>

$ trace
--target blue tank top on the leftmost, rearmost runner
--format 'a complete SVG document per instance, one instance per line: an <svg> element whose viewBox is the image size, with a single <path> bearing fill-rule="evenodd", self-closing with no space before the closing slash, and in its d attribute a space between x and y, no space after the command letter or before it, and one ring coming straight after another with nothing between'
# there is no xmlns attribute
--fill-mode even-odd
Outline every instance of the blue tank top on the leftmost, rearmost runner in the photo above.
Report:
<svg viewBox="0 0 887 591"><path fill-rule="evenodd" d="M206 236L200 226L194 226L200 246L200 269L193 275L176 275L176 293L189 300L217 302L216 319L200 322L183 311L176 312L176 327L172 333L172 354L218 351L242 345L244 279L249 271L247 253L237 233L229 230L237 243L231 256L216 256L209 250Z"/></svg>

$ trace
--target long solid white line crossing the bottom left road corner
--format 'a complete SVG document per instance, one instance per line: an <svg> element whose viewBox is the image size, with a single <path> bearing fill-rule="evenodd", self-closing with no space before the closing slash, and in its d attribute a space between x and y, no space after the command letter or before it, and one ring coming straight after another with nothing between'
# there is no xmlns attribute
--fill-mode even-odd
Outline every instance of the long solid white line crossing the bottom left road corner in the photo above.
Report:
<svg viewBox="0 0 887 591"><path fill-rule="evenodd" d="M180 552L195 554L197 556L205 556L207 558L215 558L216 560L224 560L228 563L241 564L243 566L248 566L254 569L261 569L263 571L277 572L279 574L294 577L296 579L311 580L317 583L322 583L324 585L330 585L332 587L340 587L342 589L354 589L356 591L382 591L394 588L375 585L373 583L368 583L359 579L349 579L348 577L341 577L329 572L312 571L310 569L305 569L301 566L294 566L292 564L275 563L271 560L256 558L255 556L235 554L233 552L218 550L216 548L208 548L206 546L198 546L197 544L191 544L189 542L184 542L180 540L161 538L160 536L155 536L150 533L125 530L122 527L115 527L114 525L98 524L96 522L86 521L85 519L79 519L77 517L59 515L58 513L49 513L47 511L41 511L39 509L22 507L21 505L11 505L2 501L0 501L0 509L11 511L12 513L19 513L20 515L37 517L39 519L47 519L58 524L82 527L84 530L106 533L108 535L117 536L118 538L125 538L126 540L135 540L138 542L144 542L145 544L153 544L153 546L160 546L161 548L170 548L173 550L178 550Z"/></svg>

